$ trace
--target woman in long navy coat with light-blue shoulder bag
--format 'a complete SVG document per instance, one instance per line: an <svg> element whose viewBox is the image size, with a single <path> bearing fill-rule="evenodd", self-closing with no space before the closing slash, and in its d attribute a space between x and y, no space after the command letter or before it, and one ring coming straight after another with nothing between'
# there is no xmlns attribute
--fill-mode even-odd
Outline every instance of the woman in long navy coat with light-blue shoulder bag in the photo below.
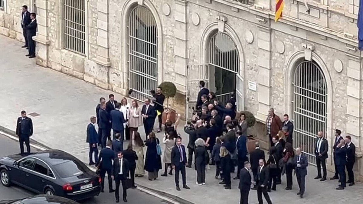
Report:
<svg viewBox="0 0 363 204"><path fill-rule="evenodd" d="M151 132L146 140L145 145L147 146L144 170L149 174L149 180L156 180L158 178L158 171L161 167L161 156L158 155L156 145L160 143L159 139L156 138L155 133Z"/></svg>

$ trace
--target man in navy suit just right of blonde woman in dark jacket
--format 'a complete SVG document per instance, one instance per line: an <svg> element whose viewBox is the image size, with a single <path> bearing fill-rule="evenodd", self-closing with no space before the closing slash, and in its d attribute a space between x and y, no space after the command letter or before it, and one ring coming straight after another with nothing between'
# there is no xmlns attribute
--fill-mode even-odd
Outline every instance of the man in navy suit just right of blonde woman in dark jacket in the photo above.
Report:
<svg viewBox="0 0 363 204"><path fill-rule="evenodd" d="M237 150L237 176L233 178L234 180L240 179L240 171L243 168L245 161L248 160L247 158L247 138L245 135L242 135L241 131L237 131L236 134L238 135L237 142L236 142L236 150Z"/></svg>

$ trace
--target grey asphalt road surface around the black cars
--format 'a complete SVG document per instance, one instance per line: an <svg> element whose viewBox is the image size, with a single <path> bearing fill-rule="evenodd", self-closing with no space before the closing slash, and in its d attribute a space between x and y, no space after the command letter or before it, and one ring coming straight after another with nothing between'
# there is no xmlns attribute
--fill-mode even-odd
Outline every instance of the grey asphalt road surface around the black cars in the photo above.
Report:
<svg viewBox="0 0 363 204"><path fill-rule="evenodd" d="M0 135L0 158L7 155L17 154L19 153L19 143L15 140L9 139L4 135ZM35 149L32 150L36 151ZM115 194L108 193L108 184L105 182L105 193L101 193L99 196L96 196L92 199L87 199L84 201L80 201L81 204L101 204L101 203L115 203ZM114 186L115 187L115 186ZM120 189L122 193L122 188ZM12 200L12 199L21 199L28 196L36 195L33 192L30 192L24 188L18 186L5 187L0 184L0 200ZM137 189L128 189L127 190L127 200L128 203L131 204L139 204L139 203L150 203L150 204L161 204L166 203L163 200L148 195L144 192L138 191ZM123 202L123 201L121 201Z"/></svg>

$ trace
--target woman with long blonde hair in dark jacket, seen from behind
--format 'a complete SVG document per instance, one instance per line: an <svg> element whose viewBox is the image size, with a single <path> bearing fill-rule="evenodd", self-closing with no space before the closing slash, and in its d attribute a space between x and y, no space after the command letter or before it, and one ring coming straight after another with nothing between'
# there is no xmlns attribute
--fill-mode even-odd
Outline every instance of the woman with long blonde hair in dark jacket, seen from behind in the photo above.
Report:
<svg viewBox="0 0 363 204"><path fill-rule="evenodd" d="M225 184L224 189L231 189L231 155L229 155L227 148L220 148L220 156L221 156L221 173L223 175L223 181L219 182L219 184Z"/></svg>

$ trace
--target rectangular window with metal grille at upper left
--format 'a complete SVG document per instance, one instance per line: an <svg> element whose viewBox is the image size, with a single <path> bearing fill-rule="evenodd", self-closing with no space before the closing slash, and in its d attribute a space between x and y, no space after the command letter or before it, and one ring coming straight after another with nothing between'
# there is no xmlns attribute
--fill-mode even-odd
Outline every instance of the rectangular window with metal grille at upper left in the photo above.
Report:
<svg viewBox="0 0 363 204"><path fill-rule="evenodd" d="M64 48L86 54L85 0L64 0Z"/></svg>

